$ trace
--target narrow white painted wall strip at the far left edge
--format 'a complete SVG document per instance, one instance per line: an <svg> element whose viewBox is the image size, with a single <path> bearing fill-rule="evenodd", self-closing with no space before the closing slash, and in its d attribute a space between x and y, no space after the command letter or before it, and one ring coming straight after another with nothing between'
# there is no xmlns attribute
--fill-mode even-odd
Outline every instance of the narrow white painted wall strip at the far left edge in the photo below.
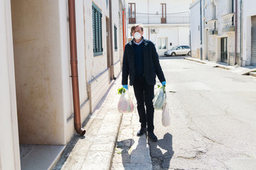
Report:
<svg viewBox="0 0 256 170"><path fill-rule="evenodd" d="M21 169L11 33L11 4L0 3L0 169Z"/></svg>

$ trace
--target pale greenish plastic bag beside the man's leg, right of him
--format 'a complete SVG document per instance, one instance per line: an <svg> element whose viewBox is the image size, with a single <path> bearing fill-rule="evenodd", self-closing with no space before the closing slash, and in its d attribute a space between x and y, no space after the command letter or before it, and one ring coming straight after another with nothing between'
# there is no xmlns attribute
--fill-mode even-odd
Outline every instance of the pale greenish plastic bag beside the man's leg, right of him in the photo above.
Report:
<svg viewBox="0 0 256 170"><path fill-rule="evenodd" d="M153 98L153 105L156 110L162 110L164 103L166 101L166 93L164 91L165 86L159 87Z"/></svg>

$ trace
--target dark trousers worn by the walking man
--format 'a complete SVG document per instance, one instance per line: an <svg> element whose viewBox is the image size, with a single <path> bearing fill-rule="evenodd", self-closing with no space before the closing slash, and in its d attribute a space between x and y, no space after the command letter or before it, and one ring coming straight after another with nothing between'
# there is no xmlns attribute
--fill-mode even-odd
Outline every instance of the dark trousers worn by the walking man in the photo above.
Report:
<svg viewBox="0 0 256 170"><path fill-rule="evenodd" d="M137 109L141 127L148 127L148 132L154 131L154 85L146 84L144 77L136 77L134 81L134 94L137 99ZM145 111L146 105L146 111Z"/></svg>

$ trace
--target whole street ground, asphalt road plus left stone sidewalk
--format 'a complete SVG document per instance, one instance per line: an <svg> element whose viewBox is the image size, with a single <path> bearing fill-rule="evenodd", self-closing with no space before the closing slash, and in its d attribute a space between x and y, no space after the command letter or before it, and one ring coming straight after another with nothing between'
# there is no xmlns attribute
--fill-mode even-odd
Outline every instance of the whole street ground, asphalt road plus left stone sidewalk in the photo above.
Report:
<svg viewBox="0 0 256 170"><path fill-rule="evenodd" d="M171 125L155 111L158 142L137 137L136 109L118 113L119 76L53 169L255 169L256 77L241 75L252 68L189 60L160 57Z"/></svg>

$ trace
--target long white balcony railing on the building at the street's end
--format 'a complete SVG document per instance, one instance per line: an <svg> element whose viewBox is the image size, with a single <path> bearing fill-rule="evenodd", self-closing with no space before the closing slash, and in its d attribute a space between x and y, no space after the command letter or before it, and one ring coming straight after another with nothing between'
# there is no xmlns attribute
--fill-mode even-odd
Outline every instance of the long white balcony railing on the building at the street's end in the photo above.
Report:
<svg viewBox="0 0 256 170"><path fill-rule="evenodd" d="M129 21L132 21L129 19ZM136 16L136 23L142 24L160 24L160 23L189 23L189 16L166 16L162 18L159 16ZM129 22L133 23L133 22Z"/></svg>

